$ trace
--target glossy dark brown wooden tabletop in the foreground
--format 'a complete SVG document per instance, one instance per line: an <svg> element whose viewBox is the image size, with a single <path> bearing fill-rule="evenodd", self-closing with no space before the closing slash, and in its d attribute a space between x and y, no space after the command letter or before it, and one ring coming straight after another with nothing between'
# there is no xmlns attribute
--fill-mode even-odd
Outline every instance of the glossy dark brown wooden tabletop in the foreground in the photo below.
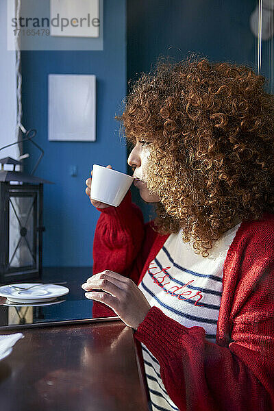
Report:
<svg viewBox="0 0 274 411"><path fill-rule="evenodd" d="M1 410L148 410L132 329L122 321L18 332L24 338L0 362Z"/></svg>

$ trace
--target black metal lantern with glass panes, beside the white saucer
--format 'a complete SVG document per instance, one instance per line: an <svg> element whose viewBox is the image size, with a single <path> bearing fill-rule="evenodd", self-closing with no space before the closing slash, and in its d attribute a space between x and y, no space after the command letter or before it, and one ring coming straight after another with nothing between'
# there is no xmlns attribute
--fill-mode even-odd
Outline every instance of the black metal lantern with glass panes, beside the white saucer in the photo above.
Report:
<svg viewBox="0 0 274 411"><path fill-rule="evenodd" d="M15 171L21 162L10 157L2 158L0 164L0 281L39 278L45 231L43 183L53 183ZM13 164L13 171L5 170L4 164Z"/></svg>

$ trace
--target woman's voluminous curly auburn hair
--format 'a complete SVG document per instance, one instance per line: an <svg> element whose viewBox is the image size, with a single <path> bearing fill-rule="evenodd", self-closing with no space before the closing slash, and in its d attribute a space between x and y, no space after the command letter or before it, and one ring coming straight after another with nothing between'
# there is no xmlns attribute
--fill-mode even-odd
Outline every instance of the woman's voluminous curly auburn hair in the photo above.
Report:
<svg viewBox="0 0 274 411"><path fill-rule="evenodd" d="M115 117L127 140L150 142L158 232L182 228L204 257L237 221L274 210L274 101L264 82L245 65L160 57Z"/></svg>

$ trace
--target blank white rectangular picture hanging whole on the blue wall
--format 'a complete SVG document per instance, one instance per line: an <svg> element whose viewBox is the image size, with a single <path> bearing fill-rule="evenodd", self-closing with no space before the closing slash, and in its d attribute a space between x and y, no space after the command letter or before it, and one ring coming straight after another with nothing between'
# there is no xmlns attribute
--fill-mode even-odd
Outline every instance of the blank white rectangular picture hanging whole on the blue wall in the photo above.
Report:
<svg viewBox="0 0 274 411"><path fill-rule="evenodd" d="M96 140L96 76L49 74L50 141Z"/></svg>

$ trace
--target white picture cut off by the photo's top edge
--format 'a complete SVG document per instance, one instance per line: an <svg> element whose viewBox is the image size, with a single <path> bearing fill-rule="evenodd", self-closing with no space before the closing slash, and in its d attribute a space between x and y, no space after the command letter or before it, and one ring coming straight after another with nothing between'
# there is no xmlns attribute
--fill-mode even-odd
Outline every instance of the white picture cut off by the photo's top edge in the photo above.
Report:
<svg viewBox="0 0 274 411"><path fill-rule="evenodd" d="M99 0L50 0L51 36L99 37Z"/></svg>

